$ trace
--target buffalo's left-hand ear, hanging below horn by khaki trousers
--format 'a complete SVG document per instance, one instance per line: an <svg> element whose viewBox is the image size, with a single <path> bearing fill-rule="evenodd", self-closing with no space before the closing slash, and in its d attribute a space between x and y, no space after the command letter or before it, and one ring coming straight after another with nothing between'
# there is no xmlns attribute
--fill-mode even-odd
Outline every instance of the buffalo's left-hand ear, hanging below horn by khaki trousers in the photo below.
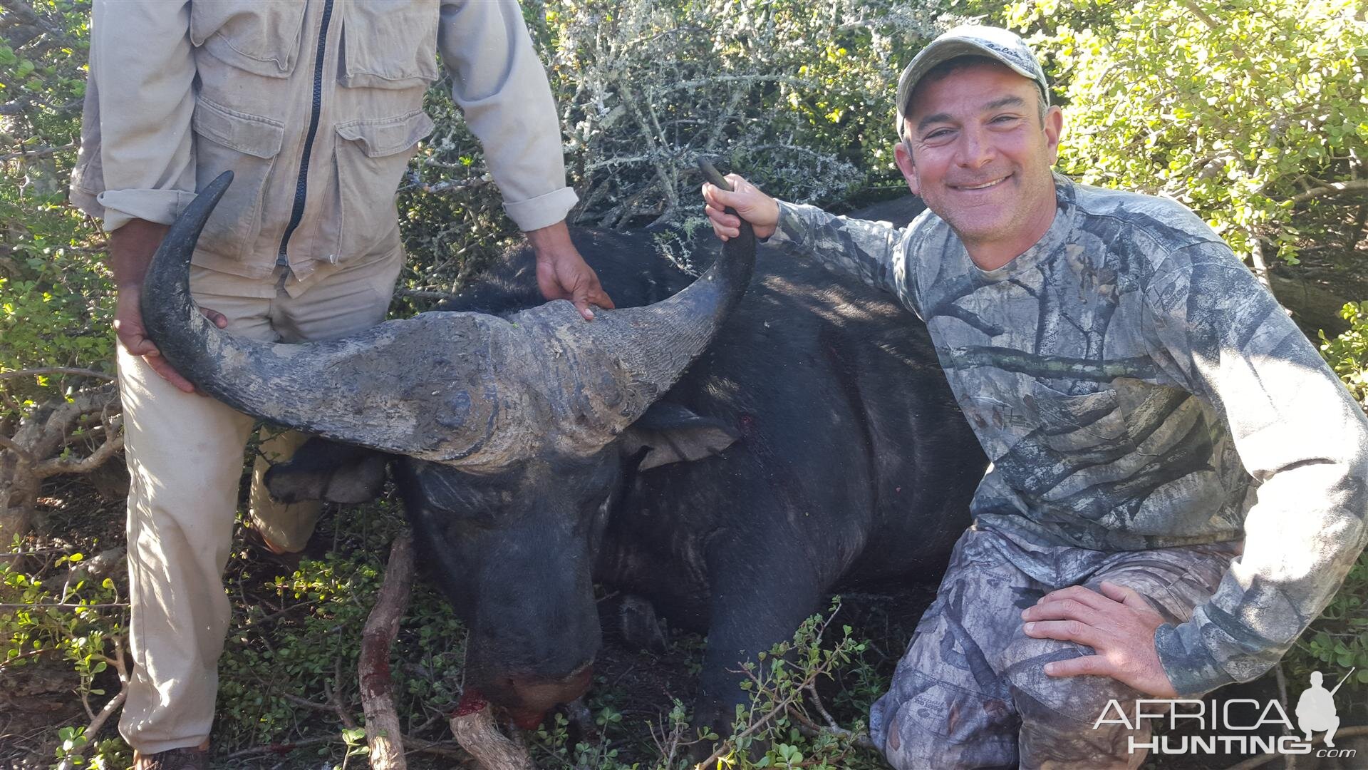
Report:
<svg viewBox="0 0 1368 770"><path fill-rule="evenodd" d="M390 455L326 438L309 438L287 462L265 471L265 488L282 503L367 503L384 489Z"/></svg>

